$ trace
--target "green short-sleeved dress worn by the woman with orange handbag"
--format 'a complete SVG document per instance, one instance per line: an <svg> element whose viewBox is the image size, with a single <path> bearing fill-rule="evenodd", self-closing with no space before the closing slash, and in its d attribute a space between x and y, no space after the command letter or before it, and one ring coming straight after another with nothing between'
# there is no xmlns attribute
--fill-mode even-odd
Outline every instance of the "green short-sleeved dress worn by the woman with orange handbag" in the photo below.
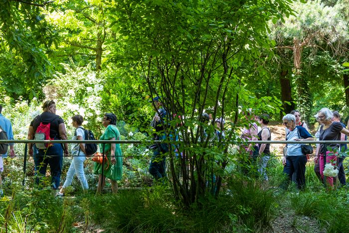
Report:
<svg viewBox="0 0 349 233"><path fill-rule="evenodd" d="M101 136L100 140L109 140L111 138L116 138L116 140L120 140L120 132L118 128L115 125L108 125L107 128L104 131L104 134ZM107 153L107 158L109 162L108 164L104 164L104 172L103 176L113 180L113 181L120 181L122 179L122 153L120 144L115 144L115 159L116 164L112 165L110 161L110 155L111 155L111 144L105 144L104 151ZM98 151L103 151L103 144L100 143L98 146ZM102 174L102 164L95 163L95 167L93 170L93 173L96 175Z"/></svg>

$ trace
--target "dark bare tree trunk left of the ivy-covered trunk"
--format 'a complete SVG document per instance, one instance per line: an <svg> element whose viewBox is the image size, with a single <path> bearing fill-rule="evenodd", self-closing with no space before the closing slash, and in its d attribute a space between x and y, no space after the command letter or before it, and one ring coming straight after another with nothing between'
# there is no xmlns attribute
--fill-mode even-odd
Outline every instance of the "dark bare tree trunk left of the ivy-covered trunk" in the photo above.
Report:
<svg viewBox="0 0 349 233"><path fill-rule="evenodd" d="M285 113L290 113L294 108L295 104L292 100L291 95L291 82L290 79L287 77L288 70L282 70L280 72L280 86L281 86L281 101L283 102L282 107L284 108ZM285 101L290 102L291 105L288 103L285 103ZM281 117L283 116L283 113L281 112Z"/></svg>

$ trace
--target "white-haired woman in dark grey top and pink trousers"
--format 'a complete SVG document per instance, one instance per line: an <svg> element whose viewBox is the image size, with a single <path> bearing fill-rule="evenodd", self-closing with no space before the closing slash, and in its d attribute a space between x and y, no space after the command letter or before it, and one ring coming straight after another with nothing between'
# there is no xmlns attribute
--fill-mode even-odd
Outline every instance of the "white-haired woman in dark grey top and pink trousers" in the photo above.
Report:
<svg viewBox="0 0 349 233"><path fill-rule="evenodd" d="M333 112L328 108L322 108L315 117L319 120L321 124L323 124L320 128L320 141L340 141L341 133L349 136L349 131L343 127L340 122L333 121ZM324 169L325 164L330 163L331 161L337 161L337 153L329 156L331 151L328 151L328 147L332 148L332 151L335 149L339 149L340 144L338 143L326 143L320 144L320 150L315 157L315 162L319 160L320 164L320 174L321 178L324 180ZM334 162L333 165L335 165ZM333 177L326 178L327 183L333 187Z"/></svg>

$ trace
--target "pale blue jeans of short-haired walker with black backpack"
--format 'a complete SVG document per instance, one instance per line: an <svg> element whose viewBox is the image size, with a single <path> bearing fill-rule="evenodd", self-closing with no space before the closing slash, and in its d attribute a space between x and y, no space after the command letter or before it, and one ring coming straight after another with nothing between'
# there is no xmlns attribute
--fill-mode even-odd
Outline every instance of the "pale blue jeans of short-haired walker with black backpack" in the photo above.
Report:
<svg viewBox="0 0 349 233"><path fill-rule="evenodd" d="M76 153L73 156L73 160L71 161L70 167L67 172L67 177L65 178L65 182L63 185L63 189L70 186L73 182L74 175L79 179L82 189L88 189L88 183L84 173L84 161L86 160L86 156L84 152L80 151L80 153Z"/></svg>

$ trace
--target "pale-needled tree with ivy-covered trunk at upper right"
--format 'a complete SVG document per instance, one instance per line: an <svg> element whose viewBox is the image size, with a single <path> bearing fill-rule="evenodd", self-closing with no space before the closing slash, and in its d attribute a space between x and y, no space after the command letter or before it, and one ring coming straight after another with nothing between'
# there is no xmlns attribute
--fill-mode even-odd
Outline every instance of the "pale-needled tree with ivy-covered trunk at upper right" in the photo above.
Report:
<svg viewBox="0 0 349 233"><path fill-rule="evenodd" d="M292 8L296 11L294 15L284 22L274 21L270 36L276 41L281 76L286 76L289 67L293 67L291 83L296 91L293 99L304 119L309 119L312 92L326 91L322 89L326 89L323 84L328 80L341 81L339 67L349 55L348 21L341 2L327 6L320 0L295 1ZM287 78L281 77L283 100L292 99L289 85Z"/></svg>

